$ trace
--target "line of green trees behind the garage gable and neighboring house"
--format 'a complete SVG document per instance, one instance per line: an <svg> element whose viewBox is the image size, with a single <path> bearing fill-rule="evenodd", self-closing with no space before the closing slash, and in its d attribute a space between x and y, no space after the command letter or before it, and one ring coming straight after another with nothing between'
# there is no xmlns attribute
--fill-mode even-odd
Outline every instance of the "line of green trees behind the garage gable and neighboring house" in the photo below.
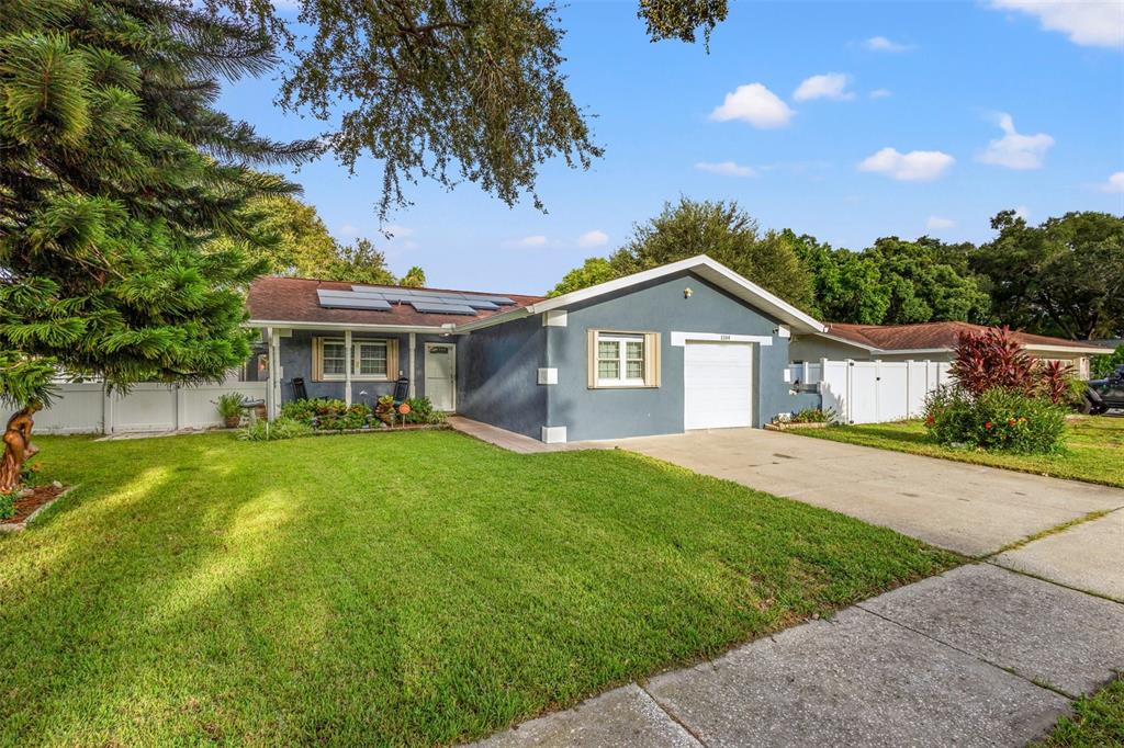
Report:
<svg viewBox="0 0 1124 748"><path fill-rule="evenodd" d="M853 252L791 229L763 231L733 201L681 198L551 293L707 254L834 322L961 320L1071 339L1124 335L1124 217L1070 212L1031 226L1008 210L991 227L997 236L979 246L890 236Z"/></svg>

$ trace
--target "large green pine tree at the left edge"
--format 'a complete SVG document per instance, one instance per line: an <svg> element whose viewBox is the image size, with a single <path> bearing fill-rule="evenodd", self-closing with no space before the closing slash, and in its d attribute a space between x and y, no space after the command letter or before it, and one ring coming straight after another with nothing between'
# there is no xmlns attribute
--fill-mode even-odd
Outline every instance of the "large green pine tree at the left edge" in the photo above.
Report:
<svg viewBox="0 0 1124 748"><path fill-rule="evenodd" d="M25 0L0 13L0 399L48 399L63 372L217 380L245 361L243 294L264 268L241 210L299 163L215 109L219 79L275 63L247 24L158 0ZM7 462L7 460L6 460ZM0 471L0 491L17 475Z"/></svg>

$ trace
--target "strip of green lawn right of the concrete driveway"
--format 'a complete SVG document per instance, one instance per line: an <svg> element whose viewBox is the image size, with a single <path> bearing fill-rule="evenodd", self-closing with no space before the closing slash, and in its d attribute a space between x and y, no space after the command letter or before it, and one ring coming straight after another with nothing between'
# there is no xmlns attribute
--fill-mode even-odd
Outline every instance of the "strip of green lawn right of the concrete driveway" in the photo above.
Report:
<svg viewBox="0 0 1124 748"><path fill-rule="evenodd" d="M1124 489L1124 418L1120 417L1082 416L1069 421L1067 449L1058 455L1009 455L942 447L928 441L921 421L794 429L792 434Z"/></svg>

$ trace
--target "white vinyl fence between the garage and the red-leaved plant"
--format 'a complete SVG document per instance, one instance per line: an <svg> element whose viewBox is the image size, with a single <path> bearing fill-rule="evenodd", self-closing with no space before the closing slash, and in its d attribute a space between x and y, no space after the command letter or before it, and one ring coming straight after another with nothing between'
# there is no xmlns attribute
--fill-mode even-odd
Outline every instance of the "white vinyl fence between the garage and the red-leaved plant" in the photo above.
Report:
<svg viewBox="0 0 1124 748"><path fill-rule="evenodd" d="M842 423L882 423L916 418L925 398L949 384L949 362L827 361L791 365L791 378L819 384L823 408Z"/></svg>

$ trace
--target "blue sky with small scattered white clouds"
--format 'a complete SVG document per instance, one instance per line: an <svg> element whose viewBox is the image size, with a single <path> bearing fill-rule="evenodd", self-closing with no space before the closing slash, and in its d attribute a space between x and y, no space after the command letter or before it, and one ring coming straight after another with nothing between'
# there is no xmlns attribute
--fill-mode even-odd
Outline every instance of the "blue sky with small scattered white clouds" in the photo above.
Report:
<svg viewBox="0 0 1124 748"><path fill-rule="evenodd" d="M294 179L336 237L373 239L395 272L523 293L680 194L737 200L763 228L852 249L888 235L987 240L1007 208L1034 222L1124 213L1124 3L731 4L710 54L650 43L635 0L561 9L570 92L606 155L584 172L545 165L547 213L423 182L388 241L378 163L348 176L329 155ZM272 137L323 131L277 110L275 91L239 82L220 106Z"/></svg>

